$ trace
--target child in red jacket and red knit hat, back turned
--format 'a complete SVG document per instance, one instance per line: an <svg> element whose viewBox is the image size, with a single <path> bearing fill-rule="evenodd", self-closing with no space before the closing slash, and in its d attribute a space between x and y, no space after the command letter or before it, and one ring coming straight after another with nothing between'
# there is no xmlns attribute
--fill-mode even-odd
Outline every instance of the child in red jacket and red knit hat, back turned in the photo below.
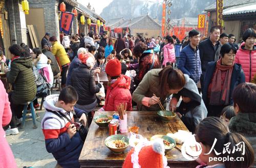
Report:
<svg viewBox="0 0 256 168"><path fill-rule="evenodd" d="M132 111L131 78L121 74L121 63L117 59L110 60L105 72L110 86L106 91L105 105L99 111L115 111L119 103L127 103L126 110Z"/></svg>

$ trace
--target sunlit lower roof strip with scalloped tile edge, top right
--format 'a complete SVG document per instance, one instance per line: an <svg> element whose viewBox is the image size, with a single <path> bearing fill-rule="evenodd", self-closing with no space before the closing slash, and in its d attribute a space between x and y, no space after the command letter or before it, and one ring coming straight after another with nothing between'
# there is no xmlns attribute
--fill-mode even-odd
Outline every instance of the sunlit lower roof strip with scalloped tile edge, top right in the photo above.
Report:
<svg viewBox="0 0 256 168"><path fill-rule="evenodd" d="M256 13L256 3L239 5L223 10L224 16L249 13Z"/></svg>

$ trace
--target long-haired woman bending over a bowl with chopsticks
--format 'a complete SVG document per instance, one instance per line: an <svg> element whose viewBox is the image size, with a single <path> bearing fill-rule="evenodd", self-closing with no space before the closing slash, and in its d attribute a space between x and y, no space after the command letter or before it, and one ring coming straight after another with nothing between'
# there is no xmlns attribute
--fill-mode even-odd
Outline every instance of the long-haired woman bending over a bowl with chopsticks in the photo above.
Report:
<svg viewBox="0 0 256 168"><path fill-rule="evenodd" d="M157 111L166 108L166 98L185 86L185 76L172 66L148 71L133 93L139 111Z"/></svg>

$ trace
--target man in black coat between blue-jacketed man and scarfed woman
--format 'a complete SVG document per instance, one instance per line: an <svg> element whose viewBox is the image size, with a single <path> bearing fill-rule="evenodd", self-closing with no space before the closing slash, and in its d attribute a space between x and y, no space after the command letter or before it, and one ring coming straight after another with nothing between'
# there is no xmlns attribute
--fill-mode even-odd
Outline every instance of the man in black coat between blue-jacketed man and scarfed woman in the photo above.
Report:
<svg viewBox="0 0 256 168"><path fill-rule="evenodd" d="M209 62L214 61L215 53L219 47L220 42L218 41L220 38L220 28L218 26L213 26L210 29L210 37L206 40L202 41L198 48L200 53L201 59L201 67L202 67L202 75L200 78L201 81L201 89L203 90L203 81L204 81L204 74L207 68L207 64Z"/></svg>

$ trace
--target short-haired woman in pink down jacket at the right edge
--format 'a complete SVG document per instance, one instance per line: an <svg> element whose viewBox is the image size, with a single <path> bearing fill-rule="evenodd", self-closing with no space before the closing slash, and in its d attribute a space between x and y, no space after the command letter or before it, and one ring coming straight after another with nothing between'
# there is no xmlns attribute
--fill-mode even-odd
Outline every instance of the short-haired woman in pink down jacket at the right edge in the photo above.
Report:
<svg viewBox="0 0 256 168"><path fill-rule="evenodd" d="M241 64L245 74L245 81L250 82L256 74L256 33L247 29L243 34L244 42L237 51L234 63Z"/></svg>

